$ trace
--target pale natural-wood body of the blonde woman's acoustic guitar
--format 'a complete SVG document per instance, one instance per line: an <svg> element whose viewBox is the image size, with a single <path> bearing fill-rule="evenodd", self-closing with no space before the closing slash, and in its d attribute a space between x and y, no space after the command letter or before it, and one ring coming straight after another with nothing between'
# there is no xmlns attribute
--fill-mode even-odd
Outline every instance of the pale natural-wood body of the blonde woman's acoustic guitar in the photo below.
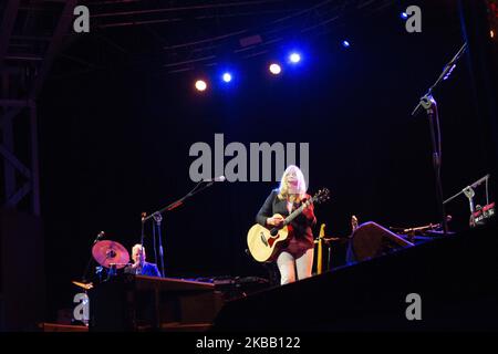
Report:
<svg viewBox="0 0 498 354"><path fill-rule="evenodd" d="M276 216L280 215L276 214L273 217ZM247 244L251 256L258 262L270 262L274 259L274 256L288 236L289 229L287 226L282 227L276 236L271 236L269 229L256 223L247 233Z"/></svg>

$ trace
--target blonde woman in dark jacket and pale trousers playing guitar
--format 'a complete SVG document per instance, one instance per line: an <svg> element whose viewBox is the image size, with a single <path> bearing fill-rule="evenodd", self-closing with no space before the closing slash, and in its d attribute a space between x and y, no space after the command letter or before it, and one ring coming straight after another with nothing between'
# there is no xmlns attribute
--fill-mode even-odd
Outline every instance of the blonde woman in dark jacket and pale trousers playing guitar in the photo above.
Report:
<svg viewBox="0 0 498 354"><path fill-rule="evenodd" d="M256 216L256 222L267 227L279 227L283 218L299 208L310 196L307 194L304 176L298 166L290 165L282 175L280 187L271 191ZM280 214L282 217L273 217ZM311 277L313 266L313 232L317 223L313 205L307 207L289 227L289 237L282 242L277 254L280 271L280 284L287 284Z"/></svg>

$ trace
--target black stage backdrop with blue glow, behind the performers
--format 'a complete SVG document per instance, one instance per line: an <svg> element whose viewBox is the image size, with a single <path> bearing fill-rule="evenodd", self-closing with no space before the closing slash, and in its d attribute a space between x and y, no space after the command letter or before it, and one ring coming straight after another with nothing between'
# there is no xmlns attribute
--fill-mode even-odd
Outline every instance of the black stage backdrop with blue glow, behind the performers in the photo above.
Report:
<svg viewBox="0 0 498 354"><path fill-rule="evenodd" d="M305 39L299 69L276 79L266 73L270 56L240 60L234 63L236 85L204 94L193 90L194 73L166 75L154 65L116 63L50 80L39 100L50 314L72 306L77 289L71 280L82 277L100 230L129 249L139 241L142 211L194 187L189 147L206 142L214 148L216 133L225 144L247 147L309 143L310 192L322 186L332 191L330 202L317 208L328 235L349 235L352 215L384 227L437 222L428 122L409 114L464 42L456 8L447 3L425 8L423 32L415 34L394 8L350 19L336 33ZM349 49L339 45L345 33ZM463 56L435 93L445 197L488 171L473 95ZM245 253L246 235L276 186L216 184L166 214L166 274L266 274ZM447 211L453 230L467 228L464 197ZM154 261L151 228L145 246ZM333 257L335 266L344 258Z"/></svg>

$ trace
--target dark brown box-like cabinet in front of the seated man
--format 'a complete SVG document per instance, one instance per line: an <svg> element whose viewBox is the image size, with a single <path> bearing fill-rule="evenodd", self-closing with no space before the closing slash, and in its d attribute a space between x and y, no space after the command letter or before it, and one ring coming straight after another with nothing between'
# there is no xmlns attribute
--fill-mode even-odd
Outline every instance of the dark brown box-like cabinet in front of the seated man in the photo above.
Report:
<svg viewBox="0 0 498 354"><path fill-rule="evenodd" d="M211 283L123 274L90 292L90 331L158 331L210 324L224 304Z"/></svg>

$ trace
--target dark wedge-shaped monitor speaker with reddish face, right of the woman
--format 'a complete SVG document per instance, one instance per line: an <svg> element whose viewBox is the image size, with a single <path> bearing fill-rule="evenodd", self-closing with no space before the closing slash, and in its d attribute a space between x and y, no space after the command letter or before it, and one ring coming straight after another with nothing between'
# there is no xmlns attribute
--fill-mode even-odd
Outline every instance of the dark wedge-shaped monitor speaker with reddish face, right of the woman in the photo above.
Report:
<svg viewBox="0 0 498 354"><path fill-rule="evenodd" d="M349 262L369 260L411 246L412 242L382 226L373 221L365 222L351 237Z"/></svg>

